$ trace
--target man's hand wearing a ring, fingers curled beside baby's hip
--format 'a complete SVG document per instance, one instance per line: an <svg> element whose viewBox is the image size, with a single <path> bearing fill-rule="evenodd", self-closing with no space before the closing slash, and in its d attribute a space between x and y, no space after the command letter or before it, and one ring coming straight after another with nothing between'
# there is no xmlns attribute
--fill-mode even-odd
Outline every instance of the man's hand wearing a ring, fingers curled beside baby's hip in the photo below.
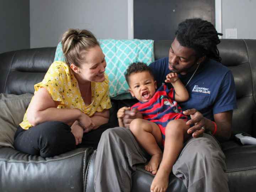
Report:
<svg viewBox="0 0 256 192"><path fill-rule="evenodd" d="M186 122L187 125L193 125L187 130L188 134L192 134L193 137L200 137L205 131L206 119L203 117L203 114L197 111L196 109L190 109L183 111L183 114L190 115L191 119Z"/></svg>

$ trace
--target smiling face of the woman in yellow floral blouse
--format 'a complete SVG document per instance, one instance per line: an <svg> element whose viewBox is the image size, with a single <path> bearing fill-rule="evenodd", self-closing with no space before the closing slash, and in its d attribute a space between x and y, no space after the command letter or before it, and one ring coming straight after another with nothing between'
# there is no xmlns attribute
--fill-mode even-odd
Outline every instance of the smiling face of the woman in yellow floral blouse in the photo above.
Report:
<svg viewBox="0 0 256 192"><path fill-rule="evenodd" d="M85 62L80 64L79 73L76 73L80 81L102 82L105 80L106 60L100 46L90 48L85 52ZM81 82L82 83L82 82Z"/></svg>

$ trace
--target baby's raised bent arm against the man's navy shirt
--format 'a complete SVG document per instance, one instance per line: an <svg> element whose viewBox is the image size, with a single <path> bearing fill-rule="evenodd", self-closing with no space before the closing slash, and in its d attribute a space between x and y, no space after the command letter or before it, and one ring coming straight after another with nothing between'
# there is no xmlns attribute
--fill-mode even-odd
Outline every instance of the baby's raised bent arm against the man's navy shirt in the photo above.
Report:
<svg viewBox="0 0 256 192"><path fill-rule="evenodd" d="M175 101L183 102L187 101L189 98L188 91L186 87L183 85L181 80L178 78L177 73L169 73L166 75L165 82L170 82L175 90Z"/></svg>

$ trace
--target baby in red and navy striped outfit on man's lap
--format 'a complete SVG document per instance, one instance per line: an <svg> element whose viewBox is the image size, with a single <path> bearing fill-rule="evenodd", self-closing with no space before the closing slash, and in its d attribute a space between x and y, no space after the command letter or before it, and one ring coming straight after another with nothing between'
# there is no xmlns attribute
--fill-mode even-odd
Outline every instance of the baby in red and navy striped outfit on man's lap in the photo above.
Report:
<svg viewBox="0 0 256 192"><path fill-rule="evenodd" d="M150 161L145 165L145 170L155 175L150 191L164 192L183 142L190 137L187 134L190 128L186 125L187 116L177 104L188 100L187 89L176 73L166 76L165 82L172 84L170 89L165 84L157 89L153 72L144 63L130 64L125 76L130 93L139 102L118 110L119 126L124 127L126 110L137 108L140 111L143 119L134 119L129 128L139 144L151 155ZM160 149L162 146L163 153Z"/></svg>

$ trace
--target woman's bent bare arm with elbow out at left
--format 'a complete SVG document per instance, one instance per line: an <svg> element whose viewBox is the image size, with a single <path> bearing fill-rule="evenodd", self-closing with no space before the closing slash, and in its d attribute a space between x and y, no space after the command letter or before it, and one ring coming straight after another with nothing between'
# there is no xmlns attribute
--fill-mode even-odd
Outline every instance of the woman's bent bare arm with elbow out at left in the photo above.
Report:
<svg viewBox="0 0 256 192"><path fill-rule="evenodd" d="M54 101L45 88L40 88L27 109L27 119L32 126L46 121L62 121L72 125L80 119L82 112L78 109L59 109L59 102Z"/></svg>

